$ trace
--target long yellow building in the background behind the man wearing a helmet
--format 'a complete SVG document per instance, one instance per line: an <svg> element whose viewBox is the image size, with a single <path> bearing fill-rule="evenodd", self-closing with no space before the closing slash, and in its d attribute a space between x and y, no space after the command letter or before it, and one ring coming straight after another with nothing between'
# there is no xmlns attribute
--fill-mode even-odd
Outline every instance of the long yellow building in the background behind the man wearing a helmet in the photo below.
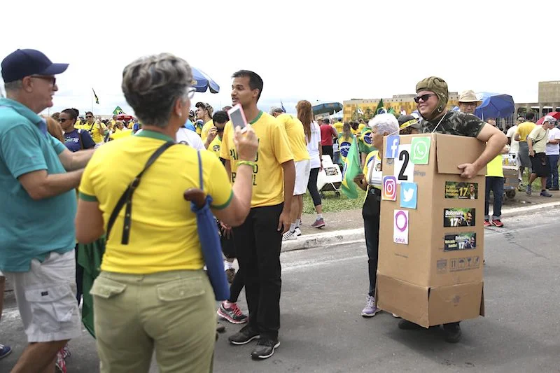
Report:
<svg viewBox="0 0 560 373"><path fill-rule="evenodd" d="M388 111L389 108L393 108L395 113L398 115L405 111L407 114L412 113L416 110L416 102L414 102L414 97L416 94L395 94L391 98L383 99L383 106ZM458 92L449 92L449 101L447 103L447 108L451 109L458 105ZM353 115L355 118L355 113L358 112L358 107L363 113L364 119L370 119L374 116L377 104L379 104L381 99L351 99L344 101L343 120L352 120Z"/></svg>

